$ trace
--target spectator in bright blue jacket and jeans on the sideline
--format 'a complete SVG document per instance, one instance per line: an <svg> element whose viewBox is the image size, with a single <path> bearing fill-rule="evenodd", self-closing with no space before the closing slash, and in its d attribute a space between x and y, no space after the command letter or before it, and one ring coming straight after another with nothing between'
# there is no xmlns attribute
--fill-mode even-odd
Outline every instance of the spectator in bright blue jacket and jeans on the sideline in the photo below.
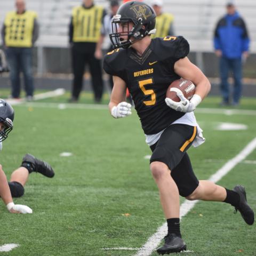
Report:
<svg viewBox="0 0 256 256"><path fill-rule="evenodd" d="M242 62L248 57L250 39L243 18L234 2L228 2L227 14L222 17L214 32L214 49L220 58L220 90L222 106L230 104L228 74L234 77L232 104L237 106L242 94Z"/></svg>

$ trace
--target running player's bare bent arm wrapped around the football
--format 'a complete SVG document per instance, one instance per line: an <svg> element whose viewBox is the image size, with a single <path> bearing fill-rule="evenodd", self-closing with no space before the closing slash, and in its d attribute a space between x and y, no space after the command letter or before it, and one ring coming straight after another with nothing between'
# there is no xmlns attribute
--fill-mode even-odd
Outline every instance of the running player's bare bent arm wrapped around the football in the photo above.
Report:
<svg viewBox="0 0 256 256"><path fill-rule="evenodd" d="M202 100L210 92L211 84L209 79L187 57L175 62L174 71L180 77L188 79L195 84L195 94L199 95Z"/></svg>

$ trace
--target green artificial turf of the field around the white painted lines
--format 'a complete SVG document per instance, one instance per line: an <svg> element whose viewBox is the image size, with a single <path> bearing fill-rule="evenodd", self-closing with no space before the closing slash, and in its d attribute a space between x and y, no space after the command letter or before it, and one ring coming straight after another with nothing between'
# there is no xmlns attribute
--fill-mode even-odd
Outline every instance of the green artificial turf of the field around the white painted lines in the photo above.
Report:
<svg viewBox="0 0 256 256"><path fill-rule="evenodd" d="M58 104L67 99L65 94L14 106L14 129L0 155L7 178L26 153L49 162L55 177L31 173L25 195L14 198L30 206L33 214L10 214L0 204L0 246L20 245L0 256L134 255L136 250L104 249L140 248L165 221L135 110L127 118L114 119L104 106L60 109ZM209 97L201 106L219 108L219 100ZM243 99L238 109L255 110L256 102ZM211 109L201 113L198 108L196 117L206 142L188 153L198 178L208 179L255 138L256 114L211 114ZM247 130L216 130L220 122L245 124ZM62 157L63 152L73 155ZM246 160L255 159L254 150ZM230 189L244 185L256 210L255 178L256 164L241 162L218 183ZM186 255L256 255L255 225L247 226L233 211L225 203L197 203L181 221L187 249L193 251Z"/></svg>

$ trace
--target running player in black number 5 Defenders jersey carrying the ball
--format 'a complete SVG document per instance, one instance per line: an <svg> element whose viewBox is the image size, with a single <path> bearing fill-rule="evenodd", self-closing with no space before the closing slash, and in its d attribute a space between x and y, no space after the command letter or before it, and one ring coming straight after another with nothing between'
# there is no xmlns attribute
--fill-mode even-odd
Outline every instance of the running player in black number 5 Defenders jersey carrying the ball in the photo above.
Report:
<svg viewBox="0 0 256 256"><path fill-rule="evenodd" d="M111 115L131 115L131 105L125 102L127 87L153 151L150 170L168 226L165 243L157 252L165 254L186 250L180 233L179 194L189 200L229 203L249 225L254 222L254 213L247 204L244 187L229 190L196 178L186 151L192 144L204 142L193 110L210 91L210 82L187 58L189 44L185 38L150 38L155 32L155 17L151 6L143 2L127 2L119 7L110 34L116 50L107 53L104 69L114 80ZM182 93L178 93L180 102L165 97L167 87L180 77L196 85L190 101Z"/></svg>

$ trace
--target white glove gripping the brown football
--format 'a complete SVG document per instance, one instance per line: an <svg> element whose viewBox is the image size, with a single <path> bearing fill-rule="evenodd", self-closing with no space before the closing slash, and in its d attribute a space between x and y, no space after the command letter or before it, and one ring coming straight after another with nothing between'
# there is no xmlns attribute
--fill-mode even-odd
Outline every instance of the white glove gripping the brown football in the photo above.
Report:
<svg viewBox="0 0 256 256"><path fill-rule="evenodd" d="M194 94L190 101L185 98L181 91L177 92L177 96L180 98L179 102L165 98L165 103L168 107L185 113L194 111L197 105L202 101L202 98L198 94Z"/></svg>

